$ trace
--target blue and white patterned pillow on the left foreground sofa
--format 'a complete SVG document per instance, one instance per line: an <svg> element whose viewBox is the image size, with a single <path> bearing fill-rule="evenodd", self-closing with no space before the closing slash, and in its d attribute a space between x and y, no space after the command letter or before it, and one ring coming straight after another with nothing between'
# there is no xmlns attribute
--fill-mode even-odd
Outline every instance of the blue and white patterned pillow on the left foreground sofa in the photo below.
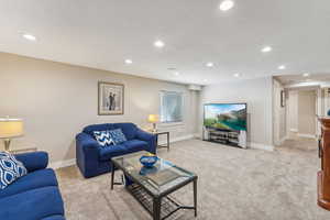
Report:
<svg viewBox="0 0 330 220"><path fill-rule="evenodd" d="M14 155L0 152L0 189L4 189L11 183L28 174L25 166Z"/></svg>

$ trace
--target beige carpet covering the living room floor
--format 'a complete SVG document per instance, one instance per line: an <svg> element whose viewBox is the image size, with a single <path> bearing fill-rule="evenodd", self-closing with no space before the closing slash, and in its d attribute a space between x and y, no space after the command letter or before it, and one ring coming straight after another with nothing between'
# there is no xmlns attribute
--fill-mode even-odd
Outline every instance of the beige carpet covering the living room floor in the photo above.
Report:
<svg viewBox="0 0 330 220"><path fill-rule="evenodd" d="M317 206L315 144L289 140L265 152L189 140L172 144L169 153L161 150L160 156L198 174L198 220L329 220L330 211ZM122 186L110 190L109 174L84 179L75 166L56 173L68 220L151 219ZM193 186L175 196L191 205ZM193 212L169 219L195 219Z"/></svg>

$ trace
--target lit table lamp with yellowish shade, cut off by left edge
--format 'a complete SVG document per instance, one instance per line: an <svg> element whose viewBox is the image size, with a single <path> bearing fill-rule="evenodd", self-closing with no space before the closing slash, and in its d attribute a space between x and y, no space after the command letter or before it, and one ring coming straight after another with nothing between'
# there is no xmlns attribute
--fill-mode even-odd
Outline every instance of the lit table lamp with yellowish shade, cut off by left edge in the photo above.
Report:
<svg viewBox="0 0 330 220"><path fill-rule="evenodd" d="M0 119L0 139L3 139L4 151L9 151L11 139L23 135L23 121L21 119Z"/></svg>

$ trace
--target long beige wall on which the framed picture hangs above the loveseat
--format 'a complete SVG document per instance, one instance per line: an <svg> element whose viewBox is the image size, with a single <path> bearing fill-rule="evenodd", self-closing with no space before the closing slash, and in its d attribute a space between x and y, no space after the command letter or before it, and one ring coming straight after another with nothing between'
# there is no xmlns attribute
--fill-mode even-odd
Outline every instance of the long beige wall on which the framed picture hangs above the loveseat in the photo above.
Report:
<svg viewBox="0 0 330 220"><path fill-rule="evenodd" d="M124 114L98 116L98 81L125 86ZM0 53L0 118L24 119L25 135L12 147L37 146L52 162L75 157L75 135L94 123L134 122L145 125L160 111L160 90L184 92L184 123L165 127L172 138L196 132L196 91L185 85ZM2 145L0 145L2 147Z"/></svg>

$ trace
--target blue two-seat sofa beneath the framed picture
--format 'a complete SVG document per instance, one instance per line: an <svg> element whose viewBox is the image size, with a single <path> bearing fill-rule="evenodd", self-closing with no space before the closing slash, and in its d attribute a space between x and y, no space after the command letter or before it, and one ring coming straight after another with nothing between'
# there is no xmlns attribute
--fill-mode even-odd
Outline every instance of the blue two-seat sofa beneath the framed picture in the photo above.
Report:
<svg viewBox="0 0 330 220"><path fill-rule="evenodd" d="M94 138L94 131L121 129L127 142L102 147ZM111 158L139 151L156 153L156 135L139 129L133 123L105 123L86 127L76 136L76 160L81 174L94 177L111 172Z"/></svg>

